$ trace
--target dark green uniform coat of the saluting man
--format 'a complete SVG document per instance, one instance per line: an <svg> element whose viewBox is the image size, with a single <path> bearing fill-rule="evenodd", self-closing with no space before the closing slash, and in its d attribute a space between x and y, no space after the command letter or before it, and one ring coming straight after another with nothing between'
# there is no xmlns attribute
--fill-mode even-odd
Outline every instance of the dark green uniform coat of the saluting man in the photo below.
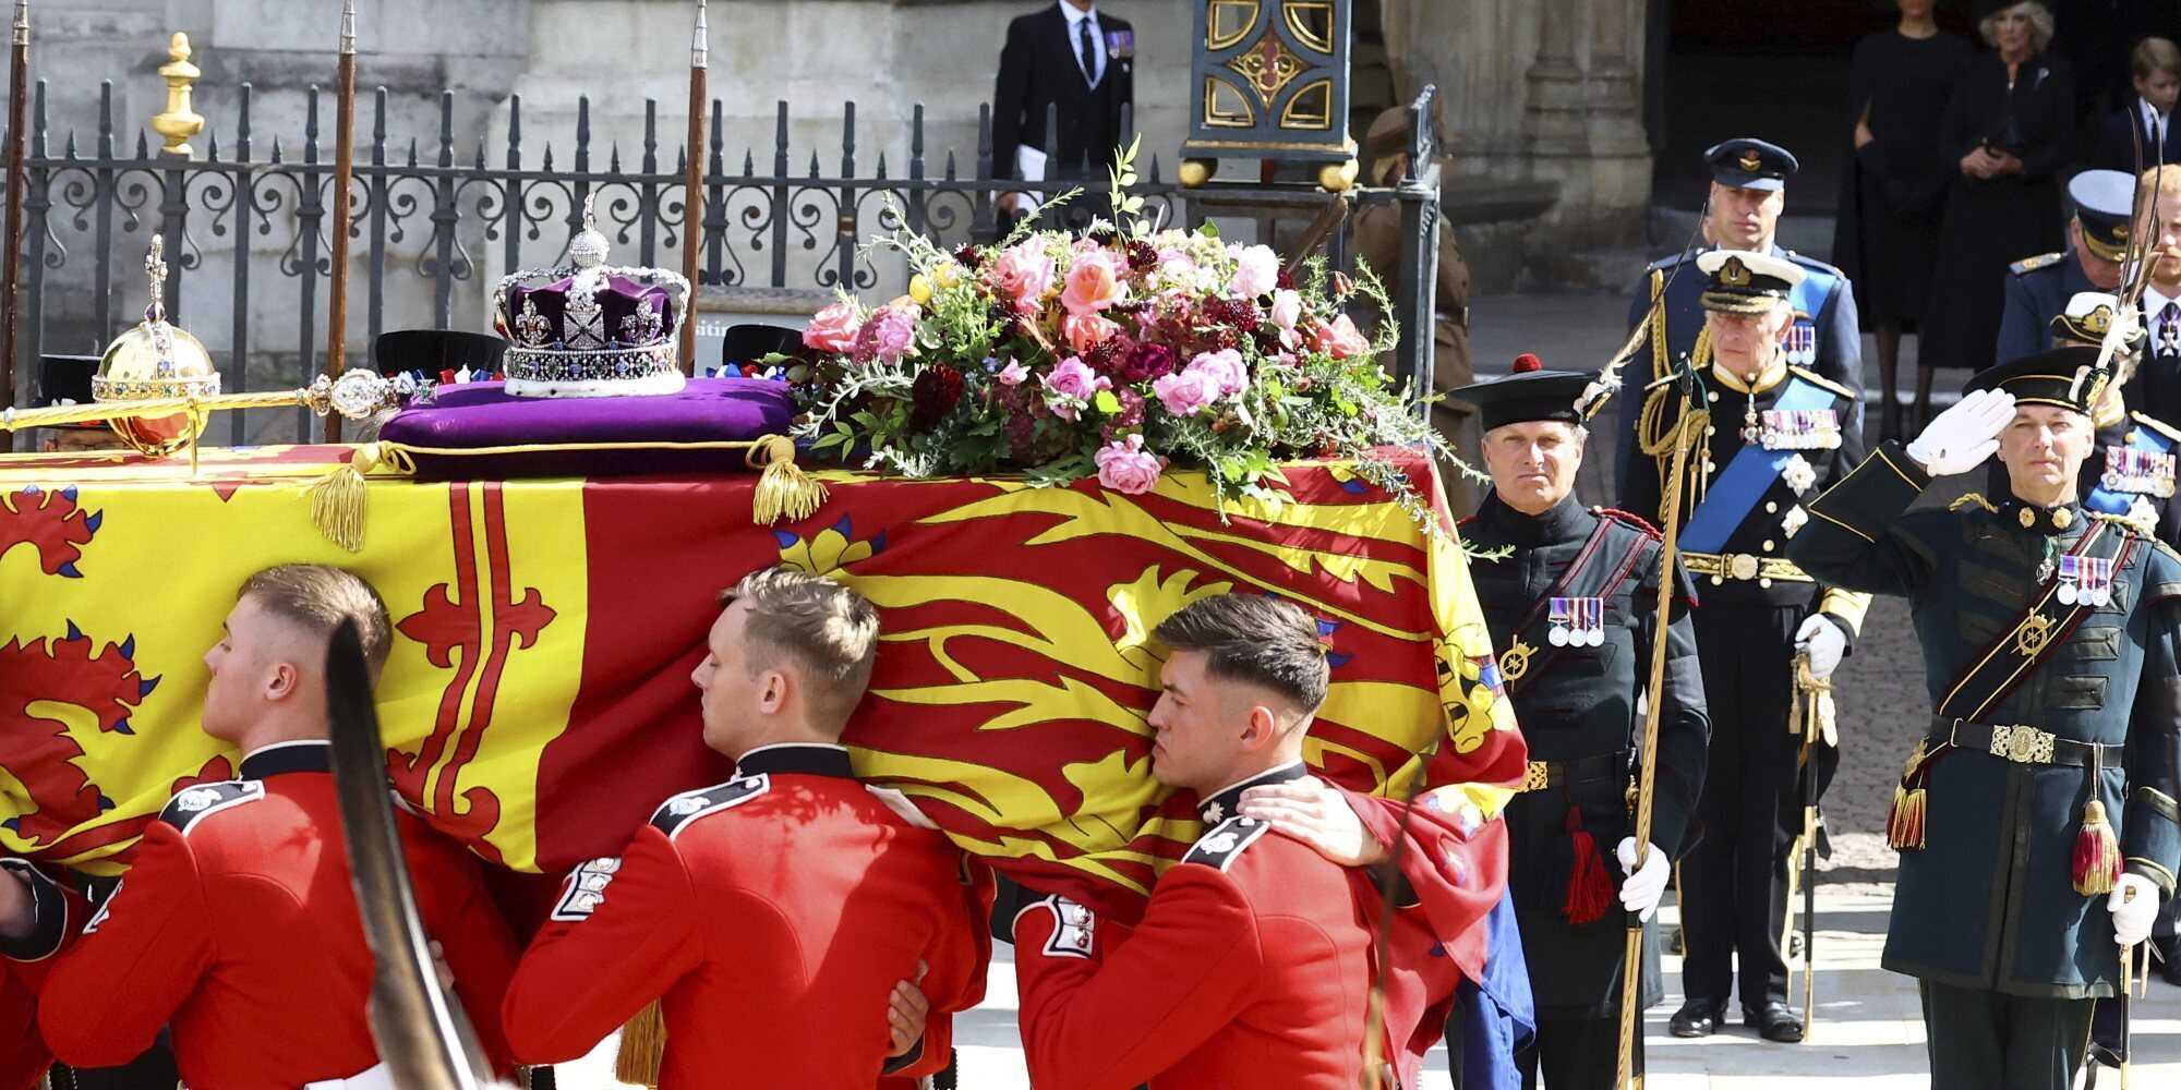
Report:
<svg viewBox="0 0 2181 1090"><path fill-rule="evenodd" d="M2035 508L2024 517L2013 497L1998 510L1908 512L1926 484L1902 447L1887 443L1810 506L1815 519L1788 552L1825 582L1908 597L1937 706L1987 650L2031 661L2011 632L2031 595L2048 586L2044 560L2105 519L2068 508L2063 528L2031 530L2024 521L2057 519L2037 519ZM2098 759L2096 796L2126 870L2170 896L2181 868L2181 556L2129 523L2105 525L2133 538L2113 569L2111 602L2089 610L1978 724L2031 726L2050 732L2037 735L2048 743L2124 746L2120 761ZM1932 719L1928 732L1941 741L1976 732ZM1926 846L1902 852L1884 966L2017 996L2111 996L2120 953L2107 898L2076 894L2072 883L2094 772L1993 750L2011 748L1963 743L1928 765Z"/></svg>

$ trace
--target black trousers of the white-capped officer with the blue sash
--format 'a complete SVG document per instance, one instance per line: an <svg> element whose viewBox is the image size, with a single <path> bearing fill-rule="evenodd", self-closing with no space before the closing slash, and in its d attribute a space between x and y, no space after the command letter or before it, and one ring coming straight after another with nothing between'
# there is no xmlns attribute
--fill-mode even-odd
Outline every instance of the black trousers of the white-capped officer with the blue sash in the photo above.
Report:
<svg viewBox="0 0 2181 1090"><path fill-rule="evenodd" d="M1701 589L1699 589L1701 591ZM1682 859L1682 992L1727 1005L1740 955L1743 1007L1786 1001L1786 855L1802 826L1786 719L1804 606L1706 602L1690 613L1712 711L1697 820Z"/></svg>

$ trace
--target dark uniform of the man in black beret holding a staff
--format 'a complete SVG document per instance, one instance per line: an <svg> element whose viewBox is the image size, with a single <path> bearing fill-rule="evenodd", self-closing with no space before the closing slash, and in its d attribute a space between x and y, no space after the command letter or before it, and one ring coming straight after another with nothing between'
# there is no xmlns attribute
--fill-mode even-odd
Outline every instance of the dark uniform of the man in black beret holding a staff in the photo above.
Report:
<svg viewBox="0 0 2181 1090"><path fill-rule="evenodd" d="M1618 1062L1627 955L1627 913L1616 896L1623 879L1612 855L1634 835L1629 787L1642 741L1636 698L1651 671L1662 543L1649 525L1586 510L1575 497L1522 514L1496 493L1461 523L1461 538L1483 554L1511 549L1498 560L1472 560L1470 578L1531 759L1525 791L1507 804L1507 883L1538 1003L1538 1042L1518 1064L1525 1086L1535 1086L1542 1066L1544 1083L1555 1090L1605 1090ZM1695 593L1686 576L1675 582L1651 815L1651 841L1668 855L1679 850L1697 809L1710 735L1688 619ZM1555 597L1562 610L1553 610ZM1562 623L1555 613L1590 621ZM1549 626L1562 632L1559 641ZM1590 855L1599 857L1603 872L1594 876L1607 883L1607 896L1575 907L1570 887ZM1644 940L1649 1007L1662 992L1655 927L1644 929Z"/></svg>

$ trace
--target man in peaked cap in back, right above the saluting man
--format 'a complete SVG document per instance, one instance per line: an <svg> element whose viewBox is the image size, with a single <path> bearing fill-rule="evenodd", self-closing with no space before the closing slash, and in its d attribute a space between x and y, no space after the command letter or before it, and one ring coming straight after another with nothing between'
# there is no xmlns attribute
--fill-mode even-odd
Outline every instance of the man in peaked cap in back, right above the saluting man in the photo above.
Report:
<svg viewBox="0 0 2181 1090"><path fill-rule="evenodd" d="M2074 218L2068 251L2039 253L2007 266L2007 310L2000 314L1998 362L2052 347L2052 318L2081 292L2120 288L2129 251L2135 179L2120 170L2085 170L2068 183Z"/></svg>

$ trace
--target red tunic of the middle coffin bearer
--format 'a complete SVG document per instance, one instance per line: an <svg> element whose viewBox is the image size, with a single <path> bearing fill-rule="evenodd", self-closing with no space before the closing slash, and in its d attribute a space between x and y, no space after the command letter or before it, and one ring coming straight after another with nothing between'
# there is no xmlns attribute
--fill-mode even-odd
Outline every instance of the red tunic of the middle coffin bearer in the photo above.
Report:
<svg viewBox="0 0 2181 1090"><path fill-rule="evenodd" d="M984 868L857 783L846 750L763 746L569 874L508 988L508 1042L530 1064L576 1059L661 998L661 1090L768 1070L870 1090L888 994L923 959L931 1018L907 1073L936 1073L949 1014L984 998L990 905Z"/></svg>

